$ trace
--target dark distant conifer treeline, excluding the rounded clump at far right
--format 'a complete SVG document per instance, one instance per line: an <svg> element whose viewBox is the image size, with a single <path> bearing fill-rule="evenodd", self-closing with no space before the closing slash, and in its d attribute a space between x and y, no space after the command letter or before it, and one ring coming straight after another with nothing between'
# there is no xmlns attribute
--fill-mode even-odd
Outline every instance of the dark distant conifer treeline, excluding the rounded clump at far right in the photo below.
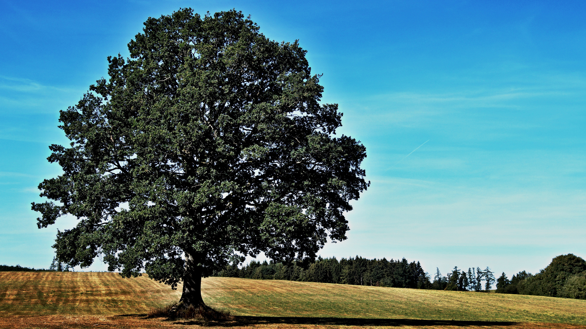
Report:
<svg viewBox="0 0 586 329"><path fill-rule="evenodd" d="M456 267L446 276L442 276L438 269L432 282L430 275L421 268L420 262L409 262L405 258L387 260L360 256L342 258L339 261L335 257L319 257L305 266L297 263L251 261L242 268L237 265L226 266L223 270L214 271L212 276L477 292L490 290L495 282L488 267L485 270L468 269L468 272Z"/></svg>

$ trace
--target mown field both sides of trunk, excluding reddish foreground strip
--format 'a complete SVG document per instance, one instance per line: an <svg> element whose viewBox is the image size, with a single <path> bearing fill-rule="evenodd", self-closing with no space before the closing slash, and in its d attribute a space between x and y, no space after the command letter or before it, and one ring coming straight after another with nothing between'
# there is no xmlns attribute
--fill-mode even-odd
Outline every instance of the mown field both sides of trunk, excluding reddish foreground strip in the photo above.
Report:
<svg viewBox="0 0 586 329"><path fill-rule="evenodd" d="M210 306L237 316L586 324L586 300L208 277ZM0 316L144 314L180 291L118 273L0 272Z"/></svg>

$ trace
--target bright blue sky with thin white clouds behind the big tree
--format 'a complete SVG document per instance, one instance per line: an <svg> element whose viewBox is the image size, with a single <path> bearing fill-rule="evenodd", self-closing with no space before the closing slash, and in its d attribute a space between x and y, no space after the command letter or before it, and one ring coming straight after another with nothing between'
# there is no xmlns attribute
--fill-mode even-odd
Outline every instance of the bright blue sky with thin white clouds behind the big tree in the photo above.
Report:
<svg viewBox="0 0 586 329"><path fill-rule="evenodd" d="M0 3L0 264L49 266L56 229L74 219L37 229L30 202L60 173L46 161L67 143L59 110L106 76L108 55L127 54L148 16L180 7L236 8L271 39L299 39L322 100L344 113L339 132L366 146L372 186L347 214L348 239L322 256L509 277L586 257L583 2Z"/></svg>

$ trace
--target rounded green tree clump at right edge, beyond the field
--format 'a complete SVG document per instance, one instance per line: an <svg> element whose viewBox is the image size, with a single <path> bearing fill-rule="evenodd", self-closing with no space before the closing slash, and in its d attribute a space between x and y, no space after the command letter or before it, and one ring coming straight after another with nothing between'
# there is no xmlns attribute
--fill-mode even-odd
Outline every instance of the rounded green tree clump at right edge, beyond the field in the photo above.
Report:
<svg viewBox="0 0 586 329"><path fill-rule="evenodd" d="M509 281L502 273L496 292L586 299L586 261L568 253L552 259L536 275L522 271Z"/></svg>

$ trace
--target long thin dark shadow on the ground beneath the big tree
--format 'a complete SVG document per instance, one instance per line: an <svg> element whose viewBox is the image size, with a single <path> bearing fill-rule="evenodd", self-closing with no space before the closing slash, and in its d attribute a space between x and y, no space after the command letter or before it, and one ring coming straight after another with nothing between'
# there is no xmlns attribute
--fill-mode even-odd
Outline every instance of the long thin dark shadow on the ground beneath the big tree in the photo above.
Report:
<svg viewBox="0 0 586 329"><path fill-rule="evenodd" d="M202 321L177 321L173 324L202 325ZM458 320L417 320L410 318L335 318L335 317L254 317L235 316L234 321L214 323L218 327L240 327L257 324L312 324L312 325L355 325L369 327L402 327L410 326L509 326L523 325L511 321L458 321Z"/></svg>

